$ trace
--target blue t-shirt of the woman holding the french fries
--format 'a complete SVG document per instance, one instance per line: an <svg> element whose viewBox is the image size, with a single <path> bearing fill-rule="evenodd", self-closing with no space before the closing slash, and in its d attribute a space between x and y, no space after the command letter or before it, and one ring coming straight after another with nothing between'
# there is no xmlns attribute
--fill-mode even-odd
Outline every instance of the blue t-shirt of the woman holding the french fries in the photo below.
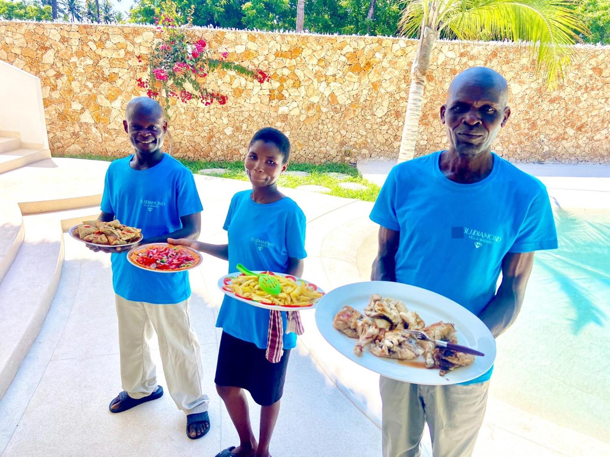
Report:
<svg viewBox="0 0 610 457"><path fill-rule="evenodd" d="M229 235L229 273L237 272L237 264L246 268L284 273L288 258L302 259L305 252L305 214L284 197L277 202L260 204L251 199L251 190L238 192L231 199L224 230ZM216 327L235 338L267 348L270 311L225 296L218 313ZM296 346L296 334L285 333L284 349Z"/></svg>

